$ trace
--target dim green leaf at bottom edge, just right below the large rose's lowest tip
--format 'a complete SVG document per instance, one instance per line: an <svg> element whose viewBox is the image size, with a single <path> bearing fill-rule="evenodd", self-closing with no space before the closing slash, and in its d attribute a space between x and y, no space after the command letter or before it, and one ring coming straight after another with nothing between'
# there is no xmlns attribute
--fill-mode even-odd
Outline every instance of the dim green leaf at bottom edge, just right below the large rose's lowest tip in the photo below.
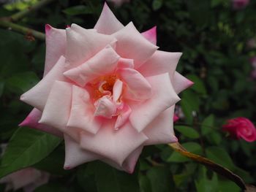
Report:
<svg viewBox="0 0 256 192"><path fill-rule="evenodd" d="M147 172L152 192L170 192L174 190L174 181L170 170L165 166L154 166Z"/></svg>

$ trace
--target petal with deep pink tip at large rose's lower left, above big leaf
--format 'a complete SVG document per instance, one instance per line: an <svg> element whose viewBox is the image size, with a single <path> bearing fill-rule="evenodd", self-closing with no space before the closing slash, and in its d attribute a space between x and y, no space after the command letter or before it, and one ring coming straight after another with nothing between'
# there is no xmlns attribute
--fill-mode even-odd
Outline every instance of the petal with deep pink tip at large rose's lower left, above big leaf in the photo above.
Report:
<svg viewBox="0 0 256 192"><path fill-rule="evenodd" d="M26 117L26 119L23 120L22 123L20 123L19 126L29 126L31 128L37 128L40 131L45 131L50 134L54 134L57 137L63 137L63 134L58 129L53 128L51 126L46 126L42 123L38 123L38 121L41 119L41 117L42 117L42 112L40 112L39 110L34 108L33 110L31 110L31 112Z"/></svg>

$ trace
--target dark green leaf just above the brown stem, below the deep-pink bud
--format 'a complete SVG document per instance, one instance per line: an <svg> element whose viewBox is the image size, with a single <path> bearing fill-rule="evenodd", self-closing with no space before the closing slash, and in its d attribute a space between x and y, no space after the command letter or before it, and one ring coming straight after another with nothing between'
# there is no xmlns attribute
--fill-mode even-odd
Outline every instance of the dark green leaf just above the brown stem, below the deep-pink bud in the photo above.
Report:
<svg viewBox="0 0 256 192"><path fill-rule="evenodd" d="M217 164L225 166L227 169L233 170L235 167L230 155L221 147L207 147L206 157Z"/></svg>

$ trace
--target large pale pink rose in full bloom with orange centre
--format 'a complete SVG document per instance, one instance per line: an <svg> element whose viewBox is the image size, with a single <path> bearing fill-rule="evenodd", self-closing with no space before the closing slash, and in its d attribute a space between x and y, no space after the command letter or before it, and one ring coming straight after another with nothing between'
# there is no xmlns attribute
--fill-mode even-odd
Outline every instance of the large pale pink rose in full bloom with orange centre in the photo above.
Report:
<svg viewBox="0 0 256 192"><path fill-rule="evenodd" d="M123 26L105 4L93 29L46 30L45 74L20 99L35 107L21 126L64 135L64 169L101 160L132 173L145 145L177 142L181 53L157 50L156 28Z"/></svg>

